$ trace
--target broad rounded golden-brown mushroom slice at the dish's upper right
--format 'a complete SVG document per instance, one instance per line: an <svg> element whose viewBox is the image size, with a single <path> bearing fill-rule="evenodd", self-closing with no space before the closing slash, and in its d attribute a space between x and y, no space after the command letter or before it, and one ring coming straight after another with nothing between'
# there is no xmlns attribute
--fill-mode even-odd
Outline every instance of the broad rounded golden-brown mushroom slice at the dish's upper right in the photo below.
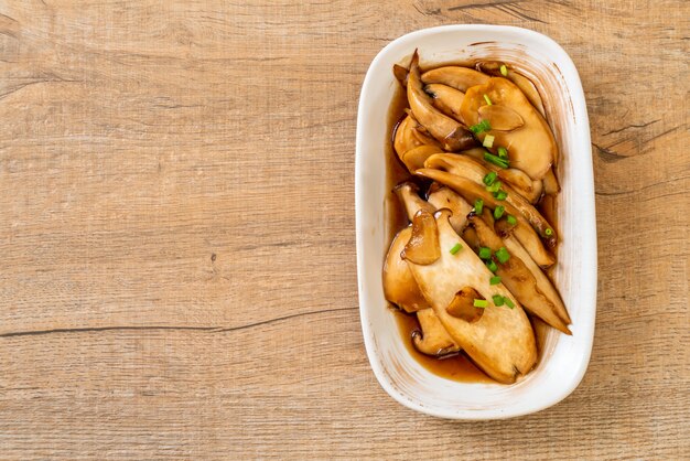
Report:
<svg viewBox="0 0 690 461"><path fill-rule="evenodd" d="M557 154L553 133L543 117L532 107L529 99L514 83L506 78L492 77L484 85L467 89L463 99L461 114L467 125L481 121L479 109L487 105L506 106L516 111L524 120L520 128L511 131L492 129L477 135L481 141L487 135L494 137L493 150L498 147L508 149L510 165L522 170L532 180L541 180L553 163Z"/></svg>

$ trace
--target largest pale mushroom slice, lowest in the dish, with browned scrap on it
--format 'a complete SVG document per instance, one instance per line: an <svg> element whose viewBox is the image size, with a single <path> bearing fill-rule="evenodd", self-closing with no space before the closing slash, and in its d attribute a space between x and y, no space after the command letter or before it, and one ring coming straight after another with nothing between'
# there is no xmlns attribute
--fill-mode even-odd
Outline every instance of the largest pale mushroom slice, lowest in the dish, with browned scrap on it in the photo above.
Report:
<svg viewBox="0 0 690 461"><path fill-rule="evenodd" d="M427 213L427 212L420 212ZM433 219L424 219L424 225L436 228L440 257L428 265L408 260L412 276L429 301L441 323L455 344L490 377L500 382L514 383L518 375L529 372L537 361L535 334L525 311L513 294L502 285L489 285L493 274L474 254L467 244L453 230L449 222L450 212L441 210ZM420 238L429 234L419 229ZM456 244L463 248L455 255L448 249ZM446 308L464 288L475 289L482 298L492 300L497 294L509 298L514 309L497 308L490 304L478 321L467 322L451 315Z"/></svg>

